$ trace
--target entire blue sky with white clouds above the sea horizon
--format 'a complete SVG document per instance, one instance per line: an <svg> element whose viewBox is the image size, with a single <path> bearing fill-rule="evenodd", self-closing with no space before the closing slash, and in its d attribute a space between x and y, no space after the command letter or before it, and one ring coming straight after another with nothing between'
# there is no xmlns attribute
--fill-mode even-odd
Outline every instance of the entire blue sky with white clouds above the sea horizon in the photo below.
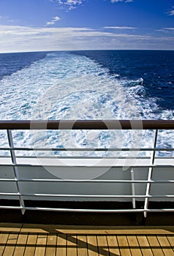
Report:
<svg viewBox="0 0 174 256"><path fill-rule="evenodd" d="M174 0L0 0L0 53L174 50Z"/></svg>

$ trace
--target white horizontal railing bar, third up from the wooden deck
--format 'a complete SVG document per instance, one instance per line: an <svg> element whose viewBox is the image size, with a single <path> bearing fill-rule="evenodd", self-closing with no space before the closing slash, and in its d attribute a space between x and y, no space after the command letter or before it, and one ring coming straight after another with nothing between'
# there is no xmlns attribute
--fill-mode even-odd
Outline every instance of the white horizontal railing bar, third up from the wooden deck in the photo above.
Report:
<svg viewBox="0 0 174 256"><path fill-rule="evenodd" d="M19 178L16 180L15 178L0 178L0 181L3 182L12 182L12 181L21 181L21 182L72 182L72 183L174 183L174 180L156 180L156 181L145 181L145 180L71 180L71 179L51 179L51 178Z"/></svg>

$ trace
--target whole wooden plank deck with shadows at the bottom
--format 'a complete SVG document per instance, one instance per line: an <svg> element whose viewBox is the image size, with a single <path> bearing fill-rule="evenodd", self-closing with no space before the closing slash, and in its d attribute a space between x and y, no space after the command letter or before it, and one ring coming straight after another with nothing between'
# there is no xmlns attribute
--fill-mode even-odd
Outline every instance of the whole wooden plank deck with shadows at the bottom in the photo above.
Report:
<svg viewBox="0 0 174 256"><path fill-rule="evenodd" d="M174 256L174 227L0 223L0 256Z"/></svg>

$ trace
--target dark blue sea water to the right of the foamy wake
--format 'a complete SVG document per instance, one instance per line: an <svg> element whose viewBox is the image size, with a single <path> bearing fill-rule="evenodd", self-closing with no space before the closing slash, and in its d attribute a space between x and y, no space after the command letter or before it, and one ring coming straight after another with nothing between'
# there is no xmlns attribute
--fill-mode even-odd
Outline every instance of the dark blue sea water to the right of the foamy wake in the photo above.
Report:
<svg viewBox="0 0 174 256"><path fill-rule="evenodd" d="M80 51L102 64L119 80L143 78L145 97L156 98L159 108L173 109L174 52L170 50L94 50ZM127 86L132 86L128 83ZM139 92L140 93L140 92ZM138 94L138 91L137 91Z"/></svg>

